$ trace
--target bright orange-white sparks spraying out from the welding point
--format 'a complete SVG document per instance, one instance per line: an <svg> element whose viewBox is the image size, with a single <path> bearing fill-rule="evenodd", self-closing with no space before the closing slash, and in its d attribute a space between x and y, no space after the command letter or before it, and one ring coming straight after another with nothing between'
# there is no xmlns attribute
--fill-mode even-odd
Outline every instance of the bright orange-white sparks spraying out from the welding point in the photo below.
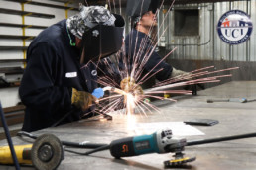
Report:
<svg viewBox="0 0 256 170"><path fill-rule="evenodd" d="M121 1L120 1L121 2ZM160 24L159 28L164 27L164 22L167 18L168 13L172 9L175 1L173 1L170 8L167 10L167 13L164 16L164 20ZM164 1L162 1L160 9L163 8ZM120 14L121 14L121 3L119 3ZM111 8L111 2L108 0L108 6ZM114 11L116 12L116 3L113 3ZM159 9L158 9L159 11ZM158 13L157 13L158 14ZM163 36L168 27L163 28L164 32L159 37ZM153 33L154 26L150 27L149 35ZM192 94L191 90L174 90L176 87L190 86L194 84L205 84L205 83L216 83L220 82L221 78L231 77L231 74L216 75L218 73L223 73L224 71L231 71L238 69L238 67L227 68L221 70L215 70L214 66L208 66L200 69L193 70L189 73L179 75L160 81L156 83L153 88L142 90L140 87L148 79L157 75L159 72L163 71L163 68L160 68L156 71L159 64L169 57L176 49L172 49L166 56L164 56L160 62L155 63L151 70L148 70L146 74L145 65L148 63L152 53L155 51L156 46L160 40L156 40L157 36L153 36L153 42L155 44L147 48L147 42L150 41L150 37L145 37L138 48L138 51L131 55L133 51L129 48L127 51L124 47L116 53L111 58L103 59L100 62L101 65L104 65L105 69L101 69L99 63L94 63L98 66L98 70L103 74L98 77L97 83L104 86L105 91L110 91L109 96L104 97L99 100L99 113L107 114L113 111L118 110L118 112L126 113L127 115L127 124L128 127L133 127L136 118L134 117L135 109L142 116L147 116L147 113L153 113L152 110L161 113L160 110L154 106L151 102L145 102L145 99L155 98L158 100L169 100L176 102L172 98L165 98L164 94ZM156 41L155 41L156 40ZM135 40L130 39L129 45L138 43L138 35ZM143 52L146 51L146 52ZM122 63L120 63L122 62ZM91 63L93 63L91 61ZM123 65L120 67L119 65ZM210 71L214 69L214 71ZM125 81L124 81L125 80ZM120 83L121 82L121 83ZM162 96L160 96L162 94ZM124 110L121 110L125 108Z"/></svg>

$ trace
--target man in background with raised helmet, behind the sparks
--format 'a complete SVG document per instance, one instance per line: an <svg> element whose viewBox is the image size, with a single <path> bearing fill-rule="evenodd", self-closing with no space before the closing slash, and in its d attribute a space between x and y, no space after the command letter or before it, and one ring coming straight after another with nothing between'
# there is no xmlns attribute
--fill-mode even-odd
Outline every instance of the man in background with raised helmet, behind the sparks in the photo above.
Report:
<svg viewBox="0 0 256 170"><path fill-rule="evenodd" d="M133 63L135 60L134 58L138 56L138 60L140 61L137 62L141 63L145 60L145 56L149 55L149 59L144 65L144 73L142 76L149 72L151 74L158 72L156 74L156 79L163 81L171 77L188 73L174 68L165 61L161 61L162 57L154 50L154 41L152 40L154 39L154 29L156 29L158 24L155 13L159 4L158 0L127 1L126 15L130 17L132 28L131 32L125 38L125 49L126 57L129 58L128 63ZM157 64L158 66L156 66ZM130 72L132 68L132 66L129 67ZM138 67L137 70L139 69L141 68ZM160 71L160 69L163 70ZM149 86L144 85L143 87L147 88Z"/></svg>

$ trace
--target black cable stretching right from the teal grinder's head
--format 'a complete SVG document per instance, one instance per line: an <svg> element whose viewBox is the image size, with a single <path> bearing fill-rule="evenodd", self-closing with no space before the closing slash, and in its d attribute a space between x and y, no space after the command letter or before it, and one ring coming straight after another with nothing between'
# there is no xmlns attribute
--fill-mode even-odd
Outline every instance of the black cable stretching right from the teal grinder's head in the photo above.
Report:
<svg viewBox="0 0 256 170"><path fill-rule="evenodd" d="M256 137L256 133L248 133L248 134L233 135L233 136L226 136L226 137L219 137L219 138L211 138L211 139L205 139L205 140L189 141L189 142L187 142L187 146L216 143L216 142L221 142L221 141L252 138L252 137Z"/></svg>

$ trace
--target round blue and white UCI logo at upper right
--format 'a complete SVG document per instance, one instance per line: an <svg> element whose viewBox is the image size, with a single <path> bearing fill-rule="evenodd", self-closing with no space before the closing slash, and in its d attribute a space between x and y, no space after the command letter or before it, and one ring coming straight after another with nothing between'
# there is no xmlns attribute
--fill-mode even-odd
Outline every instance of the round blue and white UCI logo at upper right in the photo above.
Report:
<svg viewBox="0 0 256 170"><path fill-rule="evenodd" d="M232 10L219 19L217 32L223 42L239 44L250 38L252 28L251 19L245 12Z"/></svg>

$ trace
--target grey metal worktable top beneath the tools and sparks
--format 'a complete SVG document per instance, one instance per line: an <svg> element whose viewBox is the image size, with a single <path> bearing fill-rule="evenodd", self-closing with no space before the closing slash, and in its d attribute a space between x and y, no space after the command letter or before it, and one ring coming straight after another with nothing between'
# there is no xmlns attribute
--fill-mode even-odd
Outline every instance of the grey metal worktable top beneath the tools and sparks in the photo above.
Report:
<svg viewBox="0 0 256 170"><path fill-rule="evenodd" d="M238 135L256 132L256 102L217 102L207 103L207 99L256 98L256 82L230 82L217 87L199 91L197 96L177 96L177 102L153 102L161 113L148 113L147 117L138 114L138 123L153 122L183 122L185 120L215 119L219 124L214 126L192 126L205 135L185 136L188 141L213 137ZM157 127L156 127L157 128ZM122 137L137 135L138 132L127 126L125 115L113 114L112 121L86 121L66 124L35 132L35 134L52 133L61 140L95 143L110 143ZM18 138L13 138L15 144L23 144ZM0 145L6 145L2 140ZM77 151L85 152L79 149ZM256 169L256 138L239 139L219 143L185 147L184 153L196 156L194 162L183 168L192 170L255 170ZM94 153L91 156L80 156L65 152L65 158L58 169L164 169L163 162L172 159L172 154L147 154L123 159L113 158L109 151ZM14 169L10 166L0 166L0 169ZM23 167L22 169L33 169Z"/></svg>

